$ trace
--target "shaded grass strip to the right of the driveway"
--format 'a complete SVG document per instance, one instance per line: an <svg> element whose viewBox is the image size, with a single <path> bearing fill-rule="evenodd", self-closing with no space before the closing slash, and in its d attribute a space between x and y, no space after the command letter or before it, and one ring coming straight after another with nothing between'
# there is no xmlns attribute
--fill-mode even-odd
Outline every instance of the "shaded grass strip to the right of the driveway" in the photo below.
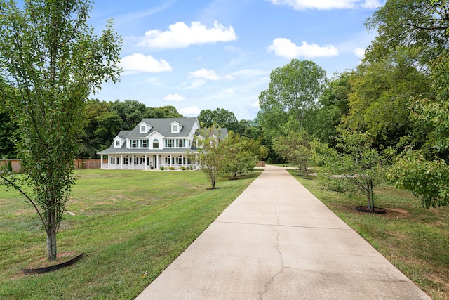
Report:
<svg viewBox="0 0 449 300"><path fill-rule="evenodd" d="M381 185L376 207L387 213L366 214L354 209L366 197L323 191L313 176L288 171L432 299L449 299L449 207L422 209L413 195Z"/></svg>

